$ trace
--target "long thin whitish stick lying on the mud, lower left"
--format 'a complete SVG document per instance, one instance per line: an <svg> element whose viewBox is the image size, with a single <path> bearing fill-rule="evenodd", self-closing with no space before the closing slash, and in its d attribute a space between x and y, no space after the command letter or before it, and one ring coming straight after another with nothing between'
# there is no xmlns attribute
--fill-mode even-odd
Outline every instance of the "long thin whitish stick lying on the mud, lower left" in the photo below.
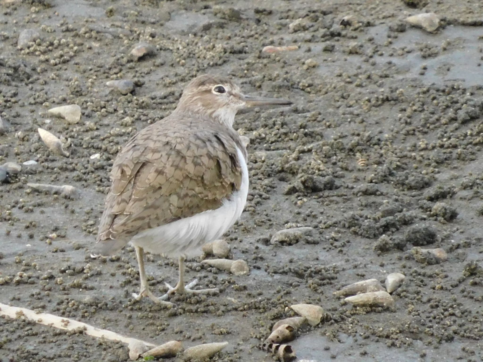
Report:
<svg viewBox="0 0 483 362"><path fill-rule="evenodd" d="M99 329L77 320L57 317L49 313L37 313L31 309L21 308L18 306L7 306L6 304L0 303L0 316L6 316L14 319L24 317L28 320L33 320L43 325L65 329L67 331L81 328L84 330L84 334L88 334L93 337L127 343L129 348L129 357L131 359L138 359L143 352L150 348L156 347L156 345L152 343L148 343L136 338L126 337L124 335L108 331L107 329Z"/></svg>

